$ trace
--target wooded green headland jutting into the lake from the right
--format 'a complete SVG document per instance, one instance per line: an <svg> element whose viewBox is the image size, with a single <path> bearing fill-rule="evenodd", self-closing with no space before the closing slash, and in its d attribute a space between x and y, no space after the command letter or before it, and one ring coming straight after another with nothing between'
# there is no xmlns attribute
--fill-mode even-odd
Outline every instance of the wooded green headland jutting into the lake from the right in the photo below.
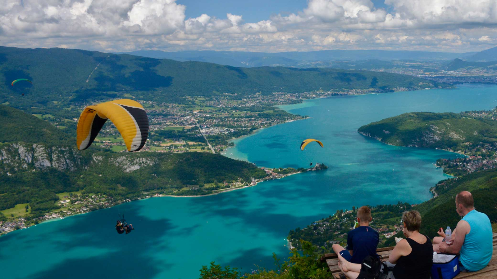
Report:
<svg viewBox="0 0 497 279"><path fill-rule="evenodd" d="M494 142L497 121L456 113L412 112L360 127L357 132L398 146L464 150L464 142Z"/></svg>

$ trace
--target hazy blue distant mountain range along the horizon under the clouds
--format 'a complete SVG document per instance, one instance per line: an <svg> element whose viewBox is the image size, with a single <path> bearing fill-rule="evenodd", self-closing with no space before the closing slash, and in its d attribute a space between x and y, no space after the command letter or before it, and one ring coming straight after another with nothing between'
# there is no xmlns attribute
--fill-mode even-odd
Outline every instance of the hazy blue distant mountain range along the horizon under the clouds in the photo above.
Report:
<svg viewBox="0 0 497 279"><path fill-rule="evenodd" d="M123 54L123 53L119 53ZM427 51L386 51L386 50L323 50L310 52L238 52L238 51L134 51L127 54L177 61L211 62L233 67L285 66L305 68L311 62L362 61L362 60L414 60L439 61L467 58L476 55L469 53L447 53ZM300 67L304 66L304 67Z"/></svg>

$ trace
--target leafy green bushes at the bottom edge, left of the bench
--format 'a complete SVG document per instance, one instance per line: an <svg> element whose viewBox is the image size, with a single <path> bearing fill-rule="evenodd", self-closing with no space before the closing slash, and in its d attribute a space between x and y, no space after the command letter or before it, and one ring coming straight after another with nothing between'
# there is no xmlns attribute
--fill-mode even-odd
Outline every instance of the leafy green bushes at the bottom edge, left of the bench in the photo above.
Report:
<svg viewBox="0 0 497 279"><path fill-rule="evenodd" d="M280 262L276 254L273 253L275 270L266 270L257 268L252 273L248 273L240 277L240 272L237 268L224 269L211 262L211 266L203 266L200 269L200 279L325 279L331 278L331 273L328 271L326 262L321 262L321 255L317 253L317 249L308 241L301 241L302 251L299 252L293 249L291 256L284 263Z"/></svg>

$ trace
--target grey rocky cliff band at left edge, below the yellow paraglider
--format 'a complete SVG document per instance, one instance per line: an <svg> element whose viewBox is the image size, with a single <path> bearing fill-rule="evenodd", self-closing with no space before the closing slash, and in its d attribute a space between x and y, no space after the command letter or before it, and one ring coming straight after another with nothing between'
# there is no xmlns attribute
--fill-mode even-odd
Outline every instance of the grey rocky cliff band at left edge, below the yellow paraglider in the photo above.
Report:
<svg viewBox="0 0 497 279"><path fill-rule="evenodd" d="M0 145L0 173L44 170L73 171L81 164L78 150L48 147L43 144L12 143Z"/></svg>

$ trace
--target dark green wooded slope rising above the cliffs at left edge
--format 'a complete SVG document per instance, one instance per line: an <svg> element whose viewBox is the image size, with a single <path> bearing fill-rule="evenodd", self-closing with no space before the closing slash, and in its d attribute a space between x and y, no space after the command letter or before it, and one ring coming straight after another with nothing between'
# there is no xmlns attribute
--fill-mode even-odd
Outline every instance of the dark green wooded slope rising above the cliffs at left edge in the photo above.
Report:
<svg viewBox="0 0 497 279"><path fill-rule="evenodd" d="M0 142L50 143L68 145L69 135L47 121L20 110L0 105Z"/></svg>

